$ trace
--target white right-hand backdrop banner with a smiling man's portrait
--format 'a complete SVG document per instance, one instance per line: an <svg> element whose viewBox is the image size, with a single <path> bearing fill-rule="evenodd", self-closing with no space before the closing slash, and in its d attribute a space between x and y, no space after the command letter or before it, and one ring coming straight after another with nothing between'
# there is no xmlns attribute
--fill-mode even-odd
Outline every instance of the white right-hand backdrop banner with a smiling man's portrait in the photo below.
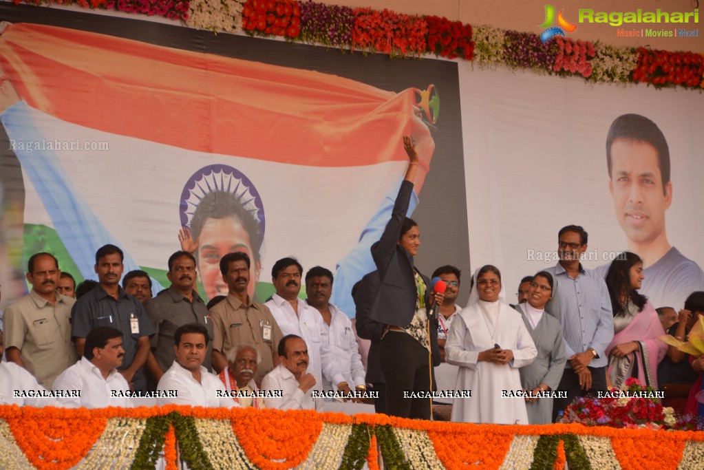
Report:
<svg viewBox="0 0 704 470"><path fill-rule="evenodd" d="M620 251L641 255L641 292L655 307L679 309L704 291L704 94L467 63L460 91L472 265L503 268L510 300L521 277L555 265L567 224L589 234L585 267L605 273ZM625 146L635 149L628 159L613 151L610 179L606 138L627 114L648 118L665 136L669 189L648 144Z"/></svg>

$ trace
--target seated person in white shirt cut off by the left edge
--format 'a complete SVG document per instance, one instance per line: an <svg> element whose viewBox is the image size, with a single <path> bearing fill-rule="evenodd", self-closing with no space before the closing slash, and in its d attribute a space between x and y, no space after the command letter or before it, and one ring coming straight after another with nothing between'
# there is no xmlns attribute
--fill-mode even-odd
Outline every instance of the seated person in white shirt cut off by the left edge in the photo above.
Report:
<svg viewBox="0 0 704 470"><path fill-rule="evenodd" d="M0 358L4 352L5 343L0 330ZM58 406L53 397L45 396L48 394L27 369L0 360L0 405Z"/></svg>

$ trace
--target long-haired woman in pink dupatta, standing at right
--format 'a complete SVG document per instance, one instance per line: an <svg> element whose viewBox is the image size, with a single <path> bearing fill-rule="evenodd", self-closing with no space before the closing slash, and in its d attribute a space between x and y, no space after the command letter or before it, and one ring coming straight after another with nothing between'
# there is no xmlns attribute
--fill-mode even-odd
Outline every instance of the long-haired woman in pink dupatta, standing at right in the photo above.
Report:
<svg viewBox="0 0 704 470"><path fill-rule="evenodd" d="M607 378L620 388L629 377L643 385L658 388L658 364L667 344L658 340L665 334L658 312L646 296L638 292L643 281L643 260L625 251L611 263L606 274L614 313L614 338L606 347L609 355Z"/></svg>

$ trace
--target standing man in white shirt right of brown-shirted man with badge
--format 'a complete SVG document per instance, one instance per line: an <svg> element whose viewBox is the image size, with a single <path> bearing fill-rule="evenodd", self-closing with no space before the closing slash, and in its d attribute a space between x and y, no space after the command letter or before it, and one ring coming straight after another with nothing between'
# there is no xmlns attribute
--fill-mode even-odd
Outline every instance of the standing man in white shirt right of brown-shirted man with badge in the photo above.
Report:
<svg viewBox="0 0 704 470"><path fill-rule="evenodd" d="M271 269L272 284L276 293L266 305L284 335L297 335L308 345L308 371L315 377L316 388L322 390L322 376L347 394L351 390L335 356L330 350L327 330L322 326L320 312L303 301L298 301L301 291L303 267L294 258L282 258Z"/></svg>

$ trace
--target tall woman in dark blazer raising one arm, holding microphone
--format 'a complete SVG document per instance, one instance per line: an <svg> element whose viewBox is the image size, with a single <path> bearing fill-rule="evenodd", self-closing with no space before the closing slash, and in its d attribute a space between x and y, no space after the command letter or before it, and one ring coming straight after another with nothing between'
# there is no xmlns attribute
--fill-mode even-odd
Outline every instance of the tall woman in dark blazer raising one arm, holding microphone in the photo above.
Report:
<svg viewBox="0 0 704 470"><path fill-rule="evenodd" d="M381 284L370 317L386 325L380 346L386 413L429 419L432 399L425 396L434 388L432 364L440 364L440 352L437 321L430 315L430 282L413 266L420 231L406 217L418 154L410 136L403 137L403 147L410 159L406 177L396 196L391 220L382 238L372 246ZM435 300L441 302L442 297Z"/></svg>

